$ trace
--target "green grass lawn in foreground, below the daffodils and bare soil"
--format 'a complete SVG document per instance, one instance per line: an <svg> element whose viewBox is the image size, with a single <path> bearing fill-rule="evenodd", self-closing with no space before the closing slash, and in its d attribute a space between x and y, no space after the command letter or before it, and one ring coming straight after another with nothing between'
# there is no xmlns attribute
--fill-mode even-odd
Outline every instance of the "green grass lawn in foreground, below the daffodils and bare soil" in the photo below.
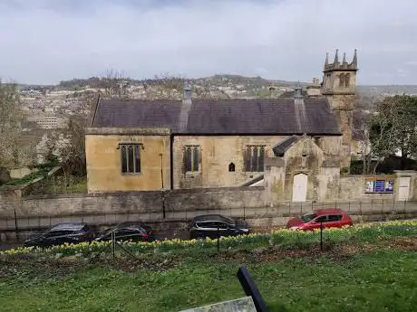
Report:
<svg viewBox="0 0 417 312"><path fill-rule="evenodd" d="M271 255L166 254L159 256L160 269L103 264L9 268L7 273L0 270L0 310L179 311L245 296L236 278L241 265L256 280L271 311L404 312L417 307L416 251L392 247L344 257L339 252L332 257Z"/></svg>

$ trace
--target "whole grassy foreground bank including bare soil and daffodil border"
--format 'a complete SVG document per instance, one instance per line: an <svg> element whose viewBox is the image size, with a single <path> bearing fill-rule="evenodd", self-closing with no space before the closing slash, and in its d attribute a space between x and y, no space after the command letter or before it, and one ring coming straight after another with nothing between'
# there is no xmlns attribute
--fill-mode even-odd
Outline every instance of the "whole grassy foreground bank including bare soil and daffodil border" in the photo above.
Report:
<svg viewBox="0 0 417 312"><path fill-rule="evenodd" d="M417 222L217 241L17 249L0 256L1 311L179 311L244 296L246 266L271 311L414 311ZM132 255L134 257L132 257Z"/></svg>

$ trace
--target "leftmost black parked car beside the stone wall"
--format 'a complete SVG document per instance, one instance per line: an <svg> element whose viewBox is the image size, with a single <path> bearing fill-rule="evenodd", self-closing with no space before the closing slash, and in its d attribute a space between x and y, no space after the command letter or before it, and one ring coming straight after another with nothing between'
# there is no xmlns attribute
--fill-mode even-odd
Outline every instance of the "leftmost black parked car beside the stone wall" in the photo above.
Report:
<svg viewBox="0 0 417 312"><path fill-rule="evenodd" d="M24 241L25 247L51 247L68 243L80 243L82 241L92 241L94 232L92 227L84 222L65 222L53 225L46 232L35 235Z"/></svg>

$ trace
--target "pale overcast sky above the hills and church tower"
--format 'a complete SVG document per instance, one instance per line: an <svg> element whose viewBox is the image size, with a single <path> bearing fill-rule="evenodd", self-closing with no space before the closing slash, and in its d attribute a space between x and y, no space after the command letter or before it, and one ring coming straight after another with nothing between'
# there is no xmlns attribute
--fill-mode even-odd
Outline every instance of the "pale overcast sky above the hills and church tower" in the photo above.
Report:
<svg viewBox="0 0 417 312"><path fill-rule="evenodd" d="M0 0L0 77L310 81L338 48L348 61L358 49L360 84L417 84L416 12L415 0Z"/></svg>

